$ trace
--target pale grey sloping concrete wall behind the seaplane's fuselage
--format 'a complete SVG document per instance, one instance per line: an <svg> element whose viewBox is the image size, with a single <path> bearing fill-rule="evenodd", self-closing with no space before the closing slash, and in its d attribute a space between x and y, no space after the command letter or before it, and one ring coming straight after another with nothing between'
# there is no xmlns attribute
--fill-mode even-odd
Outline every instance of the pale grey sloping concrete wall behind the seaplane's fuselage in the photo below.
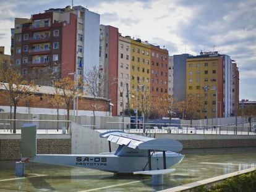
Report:
<svg viewBox="0 0 256 192"><path fill-rule="evenodd" d="M72 154L98 154L101 152L109 152L108 141L106 138L100 138L98 131L74 122L72 122L71 127ZM111 143L112 151L115 151L116 148L117 144Z"/></svg>

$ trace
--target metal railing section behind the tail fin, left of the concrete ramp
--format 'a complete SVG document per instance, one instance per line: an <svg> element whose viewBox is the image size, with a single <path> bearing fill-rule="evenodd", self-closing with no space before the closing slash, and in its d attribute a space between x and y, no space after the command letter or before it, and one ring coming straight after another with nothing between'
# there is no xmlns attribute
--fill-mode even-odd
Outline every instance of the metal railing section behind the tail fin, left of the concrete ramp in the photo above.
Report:
<svg viewBox="0 0 256 192"><path fill-rule="evenodd" d="M20 134L24 123L36 123L37 134L66 134L72 125L70 120L0 119L0 134L12 134L14 126L16 134Z"/></svg>

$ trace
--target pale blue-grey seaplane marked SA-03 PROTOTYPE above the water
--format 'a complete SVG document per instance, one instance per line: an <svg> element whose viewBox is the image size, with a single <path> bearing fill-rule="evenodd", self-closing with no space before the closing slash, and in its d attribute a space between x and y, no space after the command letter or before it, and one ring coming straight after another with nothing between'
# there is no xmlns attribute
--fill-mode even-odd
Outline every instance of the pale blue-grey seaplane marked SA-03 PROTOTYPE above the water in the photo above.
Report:
<svg viewBox="0 0 256 192"><path fill-rule="evenodd" d="M168 138L150 138L123 131L106 131L99 134L109 143L109 151L101 154L36 154L36 124L22 127L22 161L43 164L87 167L113 173L166 174L173 172L184 155L179 141ZM118 145L111 151L111 143Z"/></svg>

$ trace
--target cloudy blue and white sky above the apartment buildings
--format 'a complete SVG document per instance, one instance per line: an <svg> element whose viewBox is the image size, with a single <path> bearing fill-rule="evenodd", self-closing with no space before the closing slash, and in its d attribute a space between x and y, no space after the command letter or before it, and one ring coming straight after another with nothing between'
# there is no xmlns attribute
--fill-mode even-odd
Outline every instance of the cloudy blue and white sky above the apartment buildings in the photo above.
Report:
<svg viewBox="0 0 256 192"><path fill-rule="evenodd" d="M30 18L69 0L0 0L0 46L11 49L15 17ZM74 0L100 14L100 23L166 48L169 55L202 51L227 54L239 67L239 99L256 101L255 0Z"/></svg>

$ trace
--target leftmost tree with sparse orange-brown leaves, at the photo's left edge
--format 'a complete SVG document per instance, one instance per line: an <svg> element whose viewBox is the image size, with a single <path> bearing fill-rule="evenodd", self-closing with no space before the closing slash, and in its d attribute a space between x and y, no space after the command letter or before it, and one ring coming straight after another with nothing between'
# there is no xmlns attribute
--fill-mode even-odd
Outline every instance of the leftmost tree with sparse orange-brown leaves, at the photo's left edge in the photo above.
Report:
<svg viewBox="0 0 256 192"><path fill-rule="evenodd" d="M16 119L17 105L20 101L23 101L31 96L35 91L35 84L33 81L28 83L28 81L23 80L22 75L17 73L10 66L5 69L1 69L0 81L5 91L2 91L1 96L9 100L10 104L10 119L12 119L12 105L14 106L14 116ZM6 92L6 93L4 93ZM13 123L13 133L16 133L16 122Z"/></svg>

